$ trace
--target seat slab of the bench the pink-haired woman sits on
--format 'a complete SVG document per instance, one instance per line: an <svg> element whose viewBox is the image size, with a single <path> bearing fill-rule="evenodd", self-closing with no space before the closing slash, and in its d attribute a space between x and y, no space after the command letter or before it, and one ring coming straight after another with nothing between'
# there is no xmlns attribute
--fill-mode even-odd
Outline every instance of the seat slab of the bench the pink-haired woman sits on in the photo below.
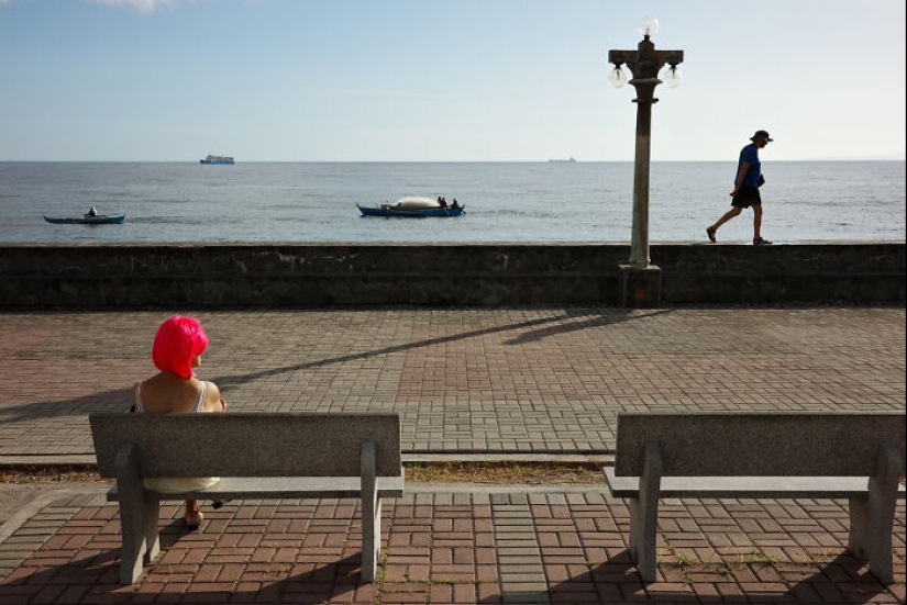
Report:
<svg viewBox="0 0 907 605"><path fill-rule="evenodd" d="M403 474L375 478L378 497L401 497ZM145 489L155 500L275 500L287 497L355 497L362 496L358 477L225 477L206 490L178 494ZM117 485L107 492L108 502L119 502Z"/></svg>

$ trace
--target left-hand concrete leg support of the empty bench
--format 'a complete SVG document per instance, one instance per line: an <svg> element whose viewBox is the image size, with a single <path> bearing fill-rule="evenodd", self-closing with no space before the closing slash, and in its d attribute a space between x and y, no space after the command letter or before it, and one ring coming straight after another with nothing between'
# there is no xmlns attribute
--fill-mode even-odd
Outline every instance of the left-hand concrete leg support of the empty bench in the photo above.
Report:
<svg viewBox="0 0 907 605"><path fill-rule="evenodd" d="M630 554L643 582L654 582L657 573L656 539L659 496L662 483L662 458L659 445L645 444L640 495L630 498Z"/></svg>

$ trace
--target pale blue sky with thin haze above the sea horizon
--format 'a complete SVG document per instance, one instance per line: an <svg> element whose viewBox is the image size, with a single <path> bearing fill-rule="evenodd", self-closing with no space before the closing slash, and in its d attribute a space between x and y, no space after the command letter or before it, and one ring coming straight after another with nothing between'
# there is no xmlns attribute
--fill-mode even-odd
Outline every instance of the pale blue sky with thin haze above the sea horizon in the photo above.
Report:
<svg viewBox="0 0 907 605"><path fill-rule="evenodd" d="M904 0L0 0L0 161L905 158Z"/></svg>

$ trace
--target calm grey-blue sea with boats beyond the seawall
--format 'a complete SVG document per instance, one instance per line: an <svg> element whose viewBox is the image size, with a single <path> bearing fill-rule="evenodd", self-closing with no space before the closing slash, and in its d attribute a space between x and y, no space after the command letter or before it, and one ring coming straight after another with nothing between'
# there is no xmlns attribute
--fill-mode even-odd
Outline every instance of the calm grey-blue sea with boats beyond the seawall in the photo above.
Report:
<svg viewBox="0 0 907 605"><path fill-rule="evenodd" d="M762 235L775 243L904 240L905 161L763 159ZM730 209L737 163L655 161L650 242L705 243ZM420 195L457 217L362 216ZM119 225L54 225L89 208ZM0 244L630 242L633 164L0 161ZM719 242L749 243L752 211Z"/></svg>

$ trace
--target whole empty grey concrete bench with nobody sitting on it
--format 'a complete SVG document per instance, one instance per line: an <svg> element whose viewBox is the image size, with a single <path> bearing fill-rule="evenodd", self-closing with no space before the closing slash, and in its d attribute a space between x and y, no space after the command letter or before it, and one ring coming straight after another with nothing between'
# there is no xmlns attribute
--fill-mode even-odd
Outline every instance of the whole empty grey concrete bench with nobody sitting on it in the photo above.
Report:
<svg viewBox="0 0 907 605"><path fill-rule="evenodd" d="M655 580L660 497L849 498L848 549L893 579L904 412L619 414L611 493L629 498L630 553Z"/></svg>

